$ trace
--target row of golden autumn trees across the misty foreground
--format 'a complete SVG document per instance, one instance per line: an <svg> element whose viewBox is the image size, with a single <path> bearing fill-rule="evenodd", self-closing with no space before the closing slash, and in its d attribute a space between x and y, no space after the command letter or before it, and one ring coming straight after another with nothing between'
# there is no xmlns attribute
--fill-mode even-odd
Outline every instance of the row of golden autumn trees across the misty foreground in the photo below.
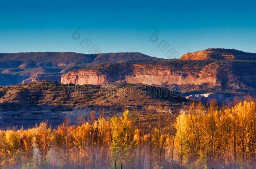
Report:
<svg viewBox="0 0 256 169"><path fill-rule="evenodd" d="M56 129L42 122L0 130L0 168L253 168L255 103L193 102L169 125L175 132L160 119L141 124L129 110L110 119L92 111L90 121Z"/></svg>

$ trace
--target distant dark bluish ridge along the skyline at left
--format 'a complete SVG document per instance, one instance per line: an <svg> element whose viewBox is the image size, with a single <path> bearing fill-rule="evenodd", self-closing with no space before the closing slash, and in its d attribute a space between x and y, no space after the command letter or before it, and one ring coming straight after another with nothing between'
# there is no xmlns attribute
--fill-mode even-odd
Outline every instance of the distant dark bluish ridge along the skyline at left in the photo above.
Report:
<svg viewBox="0 0 256 169"><path fill-rule="evenodd" d="M138 52L83 54L73 52L0 53L0 67L14 68L23 63L37 66L67 66L80 63L107 63L122 61L159 60ZM7 64L6 64L7 63Z"/></svg>

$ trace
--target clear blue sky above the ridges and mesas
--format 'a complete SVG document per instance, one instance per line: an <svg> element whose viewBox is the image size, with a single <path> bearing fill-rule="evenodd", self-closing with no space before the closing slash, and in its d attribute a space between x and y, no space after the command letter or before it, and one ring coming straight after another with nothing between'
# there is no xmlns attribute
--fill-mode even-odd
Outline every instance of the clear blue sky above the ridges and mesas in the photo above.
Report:
<svg viewBox="0 0 256 169"><path fill-rule="evenodd" d="M255 0L2 0L0 53L141 52L166 58L162 40L180 55L205 48L256 52ZM81 38L73 32L80 28ZM157 30L159 40L150 35Z"/></svg>

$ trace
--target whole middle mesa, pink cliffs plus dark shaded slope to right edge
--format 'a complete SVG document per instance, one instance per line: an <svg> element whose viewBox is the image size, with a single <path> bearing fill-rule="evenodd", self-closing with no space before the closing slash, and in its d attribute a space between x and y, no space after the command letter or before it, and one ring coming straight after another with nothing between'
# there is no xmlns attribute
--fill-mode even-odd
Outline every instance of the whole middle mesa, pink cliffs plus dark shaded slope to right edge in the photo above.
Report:
<svg viewBox="0 0 256 169"><path fill-rule="evenodd" d="M256 62L117 63L69 71L61 77L63 84L102 85L113 82L155 86L178 85L182 92L248 91L256 89Z"/></svg>

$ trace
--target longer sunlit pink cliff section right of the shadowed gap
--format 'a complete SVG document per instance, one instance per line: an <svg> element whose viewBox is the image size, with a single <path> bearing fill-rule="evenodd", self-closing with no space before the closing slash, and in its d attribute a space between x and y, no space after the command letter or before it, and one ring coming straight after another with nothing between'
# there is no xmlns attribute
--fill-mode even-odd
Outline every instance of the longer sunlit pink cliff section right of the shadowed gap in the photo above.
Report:
<svg viewBox="0 0 256 169"><path fill-rule="evenodd" d="M133 73L125 76L127 83L143 83L148 85L170 85L170 84L201 84L212 83L216 84L216 76L209 76L211 70L202 68L197 74L187 73L174 67L167 65L146 65L134 64ZM216 74L216 73L215 73Z"/></svg>

